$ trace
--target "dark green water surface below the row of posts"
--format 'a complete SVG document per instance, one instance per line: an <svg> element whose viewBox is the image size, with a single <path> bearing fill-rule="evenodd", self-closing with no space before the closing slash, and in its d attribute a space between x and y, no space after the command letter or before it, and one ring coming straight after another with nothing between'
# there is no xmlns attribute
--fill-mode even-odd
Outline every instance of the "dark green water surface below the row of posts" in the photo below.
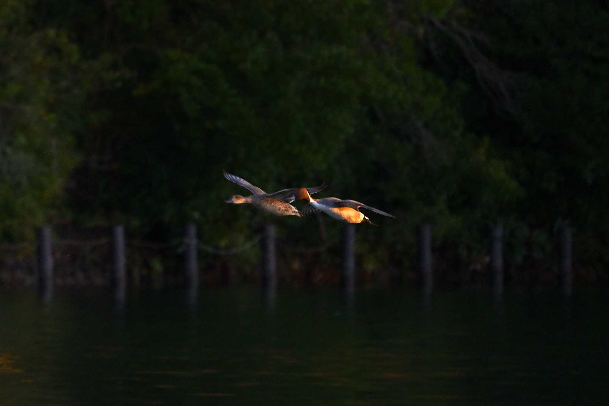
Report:
<svg viewBox="0 0 609 406"><path fill-rule="evenodd" d="M0 404L609 404L604 292L0 292Z"/></svg>

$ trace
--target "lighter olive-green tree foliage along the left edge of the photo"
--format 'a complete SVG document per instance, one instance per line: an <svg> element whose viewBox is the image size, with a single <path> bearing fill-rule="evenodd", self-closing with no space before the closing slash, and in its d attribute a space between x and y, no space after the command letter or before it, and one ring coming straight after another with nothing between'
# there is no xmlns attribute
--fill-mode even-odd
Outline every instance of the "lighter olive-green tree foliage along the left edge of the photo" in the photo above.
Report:
<svg viewBox="0 0 609 406"><path fill-rule="evenodd" d="M33 29L28 2L0 5L0 238L30 236L78 163L72 130L83 91L78 47Z"/></svg>

